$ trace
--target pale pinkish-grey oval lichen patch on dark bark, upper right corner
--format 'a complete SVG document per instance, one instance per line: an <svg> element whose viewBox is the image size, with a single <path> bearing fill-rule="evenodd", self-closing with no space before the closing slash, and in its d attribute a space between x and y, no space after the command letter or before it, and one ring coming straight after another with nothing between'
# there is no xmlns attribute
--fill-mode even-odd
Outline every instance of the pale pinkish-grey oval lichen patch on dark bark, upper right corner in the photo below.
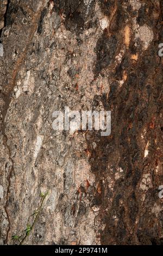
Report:
<svg viewBox="0 0 163 256"><path fill-rule="evenodd" d="M144 50L147 50L149 44L152 42L154 34L151 28L149 28L146 24L141 26L139 29L140 40L143 43Z"/></svg>

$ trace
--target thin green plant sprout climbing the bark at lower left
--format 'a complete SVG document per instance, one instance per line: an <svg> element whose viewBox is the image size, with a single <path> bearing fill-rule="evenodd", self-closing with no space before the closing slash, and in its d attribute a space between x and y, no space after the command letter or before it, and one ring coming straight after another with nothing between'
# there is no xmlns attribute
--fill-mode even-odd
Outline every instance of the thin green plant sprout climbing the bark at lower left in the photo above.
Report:
<svg viewBox="0 0 163 256"><path fill-rule="evenodd" d="M47 197L47 195L48 195L48 192L45 192L45 193L40 192L40 197L41 197L40 206L38 206L37 211L35 211L32 215L30 215L30 217L34 217L34 221L33 221L32 225L27 224L26 229L23 231L23 233L25 233L24 236L23 235L21 235L21 236L13 235L11 237L11 240L18 241L20 245L24 244L24 242L26 241L27 237L32 232L32 230L34 228L34 225L36 224L37 218L39 217L40 212L42 210L43 202L44 202L45 198Z"/></svg>

